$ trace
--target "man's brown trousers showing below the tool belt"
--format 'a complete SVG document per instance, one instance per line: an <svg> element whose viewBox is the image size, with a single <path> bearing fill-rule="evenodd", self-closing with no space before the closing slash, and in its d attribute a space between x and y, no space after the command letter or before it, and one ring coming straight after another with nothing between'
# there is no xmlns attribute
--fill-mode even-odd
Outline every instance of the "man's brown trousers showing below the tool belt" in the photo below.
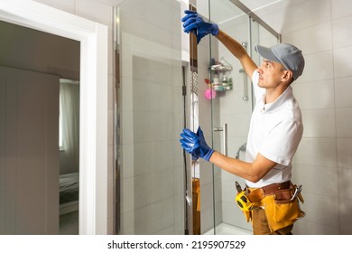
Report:
<svg viewBox="0 0 352 253"><path fill-rule="evenodd" d="M264 209L255 209L252 211L252 225L254 235L292 235L293 224L281 230L271 232Z"/></svg>

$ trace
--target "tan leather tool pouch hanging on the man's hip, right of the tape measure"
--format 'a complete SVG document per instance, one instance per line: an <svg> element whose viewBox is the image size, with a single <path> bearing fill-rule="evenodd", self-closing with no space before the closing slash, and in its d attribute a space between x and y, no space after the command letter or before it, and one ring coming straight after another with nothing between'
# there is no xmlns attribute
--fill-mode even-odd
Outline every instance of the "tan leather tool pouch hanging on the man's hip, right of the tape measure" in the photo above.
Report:
<svg viewBox="0 0 352 253"><path fill-rule="evenodd" d="M296 187L296 185L292 185L290 189L273 192L273 194L266 195L261 201L270 230L283 229L304 217L305 212L301 211L299 202L299 199L302 201L301 193L299 198L292 199Z"/></svg>

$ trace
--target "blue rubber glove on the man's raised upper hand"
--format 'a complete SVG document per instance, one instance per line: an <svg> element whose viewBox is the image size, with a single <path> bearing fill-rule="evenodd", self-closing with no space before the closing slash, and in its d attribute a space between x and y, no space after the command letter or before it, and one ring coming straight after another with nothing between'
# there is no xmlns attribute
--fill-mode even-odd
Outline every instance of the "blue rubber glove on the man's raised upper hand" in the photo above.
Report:
<svg viewBox="0 0 352 253"><path fill-rule="evenodd" d="M185 33L195 33L197 43L207 34L218 35L218 24L204 22L203 18L196 12L186 10L186 15L181 19Z"/></svg>

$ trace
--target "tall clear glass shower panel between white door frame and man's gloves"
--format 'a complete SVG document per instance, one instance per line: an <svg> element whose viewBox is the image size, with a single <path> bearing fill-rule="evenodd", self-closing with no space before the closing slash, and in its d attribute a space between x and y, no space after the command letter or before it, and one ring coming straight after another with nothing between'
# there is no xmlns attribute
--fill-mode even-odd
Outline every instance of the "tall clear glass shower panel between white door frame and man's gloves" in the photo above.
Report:
<svg viewBox="0 0 352 253"><path fill-rule="evenodd" d="M116 233L185 233L181 5L117 8Z"/></svg>

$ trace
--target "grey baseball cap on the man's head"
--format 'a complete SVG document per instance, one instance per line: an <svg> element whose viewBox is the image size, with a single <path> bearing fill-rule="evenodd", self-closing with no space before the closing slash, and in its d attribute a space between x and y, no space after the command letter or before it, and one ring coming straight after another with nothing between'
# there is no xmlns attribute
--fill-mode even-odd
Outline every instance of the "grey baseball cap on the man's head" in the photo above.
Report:
<svg viewBox="0 0 352 253"><path fill-rule="evenodd" d="M286 70L292 71L293 80L297 80L303 72L303 55L301 54L301 50L292 44L279 43L271 48L255 45L255 51L266 60L282 63Z"/></svg>

